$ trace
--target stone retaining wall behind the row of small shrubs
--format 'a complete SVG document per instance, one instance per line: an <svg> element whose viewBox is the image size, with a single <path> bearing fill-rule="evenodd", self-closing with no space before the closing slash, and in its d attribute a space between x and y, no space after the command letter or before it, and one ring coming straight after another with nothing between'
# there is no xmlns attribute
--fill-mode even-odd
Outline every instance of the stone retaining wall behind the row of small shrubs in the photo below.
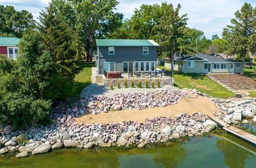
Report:
<svg viewBox="0 0 256 168"><path fill-rule="evenodd" d="M124 78L119 78L120 79L120 86L123 87L124 86ZM117 81L119 79L104 79L104 86L106 88L110 88L110 86L116 87L117 86ZM129 87L131 87L131 81L132 79L134 79L134 83L135 83L135 87L138 84L138 80L139 78L129 78L127 79L127 84ZM142 87L145 87L145 83L146 83L146 79L148 79L150 87L151 87L151 83L153 80L155 80L155 87L157 87L157 80L158 78L141 78L141 84ZM160 78L161 79L161 86L166 86L166 85L174 85L174 78L173 77L168 77L168 78Z"/></svg>

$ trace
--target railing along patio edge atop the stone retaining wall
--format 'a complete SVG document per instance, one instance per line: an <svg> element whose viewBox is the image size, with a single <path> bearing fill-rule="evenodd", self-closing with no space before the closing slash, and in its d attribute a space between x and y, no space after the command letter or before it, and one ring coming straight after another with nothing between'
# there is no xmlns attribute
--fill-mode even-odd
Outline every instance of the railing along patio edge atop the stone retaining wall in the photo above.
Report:
<svg viewBox="0 0 256 168"><path fill-rule="evenodd" d="M104 70L104 76L105 78L110 78L108 77L108 73ZM166 76L171 76L172 77L172 72L171 71L151 71L151 72L121 72L122 77L126 78L163 78ZM118 78L118 77L111 77L111 78Z"/></svg>

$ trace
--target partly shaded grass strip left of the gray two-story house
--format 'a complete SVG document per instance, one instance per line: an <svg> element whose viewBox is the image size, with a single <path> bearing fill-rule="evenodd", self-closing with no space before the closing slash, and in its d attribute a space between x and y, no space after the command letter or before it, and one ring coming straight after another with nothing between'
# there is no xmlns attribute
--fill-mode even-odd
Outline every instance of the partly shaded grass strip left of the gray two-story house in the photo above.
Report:
<svg viewBox="0 0 256 168"><path fill-rule="evenodd" d="M93 66L95 66L95 63L80 63L80 67L82 68L82 70L75 75L75 82L73 85L74 96L79 97L83 88L87 87L92 83L91 76Z"/></svg>

